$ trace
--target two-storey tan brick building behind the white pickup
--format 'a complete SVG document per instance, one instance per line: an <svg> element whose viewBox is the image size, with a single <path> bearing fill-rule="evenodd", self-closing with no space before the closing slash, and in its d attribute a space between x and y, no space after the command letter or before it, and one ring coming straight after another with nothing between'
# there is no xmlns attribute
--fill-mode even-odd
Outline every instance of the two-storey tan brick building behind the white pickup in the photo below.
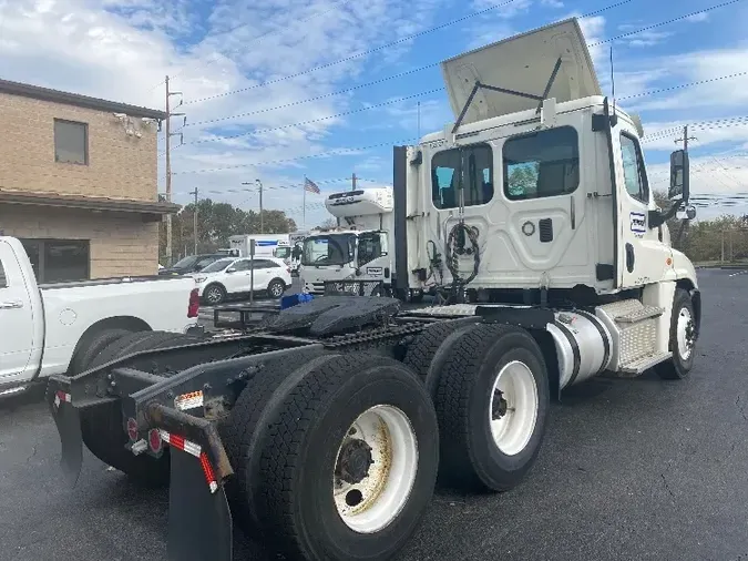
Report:
<svg viewBox="0 0 748 561"><path fill-rule="evenodd" d="M155 111L0 80L0 233L42 283L150 275L158 223Z"/></svg>

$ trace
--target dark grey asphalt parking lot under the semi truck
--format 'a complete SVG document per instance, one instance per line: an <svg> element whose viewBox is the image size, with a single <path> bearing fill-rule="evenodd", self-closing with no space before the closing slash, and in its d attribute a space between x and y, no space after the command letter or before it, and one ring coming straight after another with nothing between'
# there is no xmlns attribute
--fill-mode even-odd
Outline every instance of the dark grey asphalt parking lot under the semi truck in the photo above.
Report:
<svg viewBox="0 0 748 561"><path fill-rule="evenodd" d="M704 320L686 381L596 379L563 396L530 478L503 494L439 491L399 561L748 559L748 276L699 272ZM0 406L0 559L165 559L166 491L85 452L58 470L42 404ZM235 558L268 561L237 532Z"/></svg>

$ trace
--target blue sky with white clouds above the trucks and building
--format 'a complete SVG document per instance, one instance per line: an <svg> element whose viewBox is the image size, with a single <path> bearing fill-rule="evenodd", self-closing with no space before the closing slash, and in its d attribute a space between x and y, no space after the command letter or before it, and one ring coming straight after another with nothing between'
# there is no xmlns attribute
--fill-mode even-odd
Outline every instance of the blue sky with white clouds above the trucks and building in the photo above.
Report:
<svg viewBox="0 0 748 561"><path fill-rule="evenodd" d="M187 114L175 201L198 187L256 207L242 182L260 178L266 207L300 222L305 175L325 192L353 172L388 184L391 145L418 135L419 102L421 133L453 120L441 60L590 12L601 84L609 93L613 45L616 98L643 118L655 186L672 129L691 123L694 191L748 192L748 0L0 0L0 75L163 109L168 74ZM307 197L307 226L325 218L321 201Z"/></svg>

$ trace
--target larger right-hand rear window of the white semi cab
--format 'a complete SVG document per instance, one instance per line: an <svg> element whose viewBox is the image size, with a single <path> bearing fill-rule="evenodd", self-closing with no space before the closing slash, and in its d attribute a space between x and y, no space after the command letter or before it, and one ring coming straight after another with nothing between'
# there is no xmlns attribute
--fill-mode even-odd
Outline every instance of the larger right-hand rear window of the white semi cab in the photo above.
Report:
<svg viewBox="0 0 748 561"><path fill-rule="evenodd" d="M580 144L572 126L509 139L503 160L510 201L566 195L580 185Z"/></svg>

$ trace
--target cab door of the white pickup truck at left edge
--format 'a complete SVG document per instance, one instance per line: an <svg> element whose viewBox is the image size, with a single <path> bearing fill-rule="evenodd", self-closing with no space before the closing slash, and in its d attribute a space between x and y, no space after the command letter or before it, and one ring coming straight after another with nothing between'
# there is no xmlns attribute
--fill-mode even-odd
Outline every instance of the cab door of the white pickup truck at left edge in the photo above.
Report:
<svg viewBox="0 0 748 561"><path fill-rule="evenodd" d="M13 248L0 241L0 385L3 378L27 369L34 344L33 322L43 322L31 309L28 280Z"/></svg>

